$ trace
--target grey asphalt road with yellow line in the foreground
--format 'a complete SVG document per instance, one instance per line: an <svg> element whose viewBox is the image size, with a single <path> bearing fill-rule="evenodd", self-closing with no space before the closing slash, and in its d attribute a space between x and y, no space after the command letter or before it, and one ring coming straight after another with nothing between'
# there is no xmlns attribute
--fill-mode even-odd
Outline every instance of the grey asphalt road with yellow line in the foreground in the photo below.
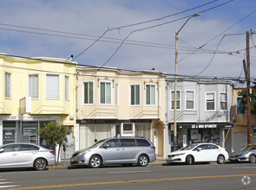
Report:
<svg viewBox="0 0 256 190"><path fill-rule="evenodd" d="M12 189L255 189L256 164L0 170Z"/></svg>

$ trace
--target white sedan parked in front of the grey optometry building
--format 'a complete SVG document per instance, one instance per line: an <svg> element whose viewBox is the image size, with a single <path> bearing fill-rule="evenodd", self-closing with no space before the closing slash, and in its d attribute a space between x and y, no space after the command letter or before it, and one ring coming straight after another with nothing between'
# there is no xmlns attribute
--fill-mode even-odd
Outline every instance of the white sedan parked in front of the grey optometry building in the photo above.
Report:
<svg viewBox="0 0 256 190"><path fill-rule="evenodd" d="M189 165L194 162L217 161L223 164L228 159L226 149L213 143L194 143L167 155L167 163L185 162Z"/></svg>

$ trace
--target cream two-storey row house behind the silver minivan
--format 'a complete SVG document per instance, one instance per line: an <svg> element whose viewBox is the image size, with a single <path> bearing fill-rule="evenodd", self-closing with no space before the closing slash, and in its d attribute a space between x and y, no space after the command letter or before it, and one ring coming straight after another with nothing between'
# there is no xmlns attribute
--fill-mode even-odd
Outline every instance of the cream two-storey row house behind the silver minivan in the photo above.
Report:
<svg viewBox="0 0 256 190"><path fill-rule="evenodd" d="M75 149L113 136L145 136L164 153L165 75L77 67Z"/></svg>

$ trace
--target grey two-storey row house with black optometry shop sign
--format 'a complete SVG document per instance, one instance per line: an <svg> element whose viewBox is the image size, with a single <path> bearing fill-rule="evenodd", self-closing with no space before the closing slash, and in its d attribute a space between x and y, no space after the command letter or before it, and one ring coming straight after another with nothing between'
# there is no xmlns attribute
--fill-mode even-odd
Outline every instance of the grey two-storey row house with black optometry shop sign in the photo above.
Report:
<svg viewBox="0 0 256 190"><path fill-rule="evenodd" d="M232 151L233 83L225 80L177 80L177 140L213 142ZM167 79L167 152L174 150L174 79Z"/></svg>

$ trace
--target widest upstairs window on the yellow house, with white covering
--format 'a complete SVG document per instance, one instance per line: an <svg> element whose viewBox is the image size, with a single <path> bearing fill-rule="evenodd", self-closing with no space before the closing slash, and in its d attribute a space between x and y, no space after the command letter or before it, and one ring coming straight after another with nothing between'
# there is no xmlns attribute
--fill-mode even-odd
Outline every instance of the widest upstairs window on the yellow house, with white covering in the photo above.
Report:
<svg viewBox="0 0 256 190"><path fill-rule="evenodd" d="M46 74L46 98L59 99L60 98L59 75Z"/></svg>

